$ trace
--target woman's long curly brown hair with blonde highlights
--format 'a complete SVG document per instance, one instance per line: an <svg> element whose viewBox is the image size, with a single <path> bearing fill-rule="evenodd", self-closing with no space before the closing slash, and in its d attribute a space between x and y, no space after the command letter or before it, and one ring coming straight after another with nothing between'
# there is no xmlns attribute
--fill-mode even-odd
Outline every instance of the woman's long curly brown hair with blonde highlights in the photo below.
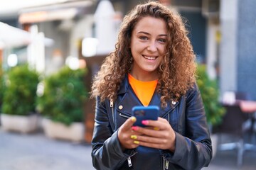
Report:
<svg viewBox="0 0 256 170"><path fill-rule="evenodd" d="M124 16L120 26L114 52L111 52L102 63L100 71L94 78L91 96L100 96L115 100L117 91L132 68L132 53L130 49L132 30L145 16L161 18L166 21L168 42L166 54L161 61L158 72L159 80L156 91L161 94L161 106L178 101L195 83L195 54L181 16L157 2L139 4Z"/></svg>

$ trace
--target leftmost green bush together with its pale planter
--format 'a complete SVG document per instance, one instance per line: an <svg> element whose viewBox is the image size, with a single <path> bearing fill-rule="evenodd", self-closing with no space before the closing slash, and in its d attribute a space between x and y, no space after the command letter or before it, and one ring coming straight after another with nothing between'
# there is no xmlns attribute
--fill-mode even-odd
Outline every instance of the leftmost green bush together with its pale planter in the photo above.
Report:
<svg viewBox="0 0 256 170"><path fill-rule="evenodd" d="M21 64L4 72L1 125L5 130L34 132L38 128L36 89L38 73Z"/></svg>

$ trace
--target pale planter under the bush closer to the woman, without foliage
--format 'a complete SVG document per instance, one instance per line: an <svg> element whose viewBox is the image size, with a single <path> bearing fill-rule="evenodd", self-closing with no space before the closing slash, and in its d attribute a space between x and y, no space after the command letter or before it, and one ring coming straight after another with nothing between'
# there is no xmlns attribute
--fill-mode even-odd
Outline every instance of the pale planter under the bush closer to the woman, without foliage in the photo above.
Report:
<svg viewBox="0 0 256 170"><path fill-rule="evenodd" d="M85 126L83 123L72 123L70 126L63 123L55 123L52 120L43 118L43 130L47 137L72 142L84 140Z"/></svg>

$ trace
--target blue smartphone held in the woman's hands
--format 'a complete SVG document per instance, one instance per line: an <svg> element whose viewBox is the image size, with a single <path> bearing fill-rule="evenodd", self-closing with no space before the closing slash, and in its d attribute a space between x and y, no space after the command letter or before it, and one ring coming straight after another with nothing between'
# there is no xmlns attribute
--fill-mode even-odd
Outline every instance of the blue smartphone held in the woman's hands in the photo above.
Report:
<svg viewBox="0 0 256 170"><path fill-rule="evenodd" d="M142 120L157 120L159 117L158 106L134 106L132 108L132 115L137 119L134 126L145 127Z"/></svg>

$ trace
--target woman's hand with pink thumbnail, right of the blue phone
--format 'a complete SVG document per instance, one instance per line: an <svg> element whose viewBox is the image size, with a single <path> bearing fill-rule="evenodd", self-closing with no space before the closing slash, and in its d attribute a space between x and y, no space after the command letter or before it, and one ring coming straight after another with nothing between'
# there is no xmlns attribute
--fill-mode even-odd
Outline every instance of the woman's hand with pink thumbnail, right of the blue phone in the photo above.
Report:
<svg viewBox="0 0 256 170"><path fill-rule="evenodd" d="M142 135L137 135L136 140L139 145L156 149L169 149L174 152L176 135L166 119L143 120L143 124L147 127L136 126L132 128L134 131L142 133Z"/></svg>

